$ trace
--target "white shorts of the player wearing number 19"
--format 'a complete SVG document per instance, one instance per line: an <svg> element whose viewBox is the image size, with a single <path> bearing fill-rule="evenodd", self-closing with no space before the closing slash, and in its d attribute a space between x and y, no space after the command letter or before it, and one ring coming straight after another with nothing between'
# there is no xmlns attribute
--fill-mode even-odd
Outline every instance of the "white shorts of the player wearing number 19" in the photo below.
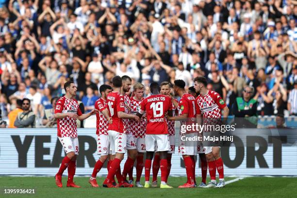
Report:
<svg viewBox="0 0 297 198"><path fill-rule="evenodd" d="M146 134L146 150L147 151L168 151L170 150L168 134Z"/></svg>

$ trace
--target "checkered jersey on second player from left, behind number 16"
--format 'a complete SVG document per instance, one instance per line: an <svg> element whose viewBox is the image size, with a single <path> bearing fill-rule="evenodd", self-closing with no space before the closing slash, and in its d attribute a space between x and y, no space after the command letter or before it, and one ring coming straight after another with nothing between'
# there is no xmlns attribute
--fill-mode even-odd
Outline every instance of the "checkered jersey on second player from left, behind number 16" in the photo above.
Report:
<svg viewBox="0 0 297 198"><path fill-rule="evenodd" d="M99 113L96 114L96 134L97 135L108 135L107 127L108 127L108 120L105 116L101 113L106 107L106 100L99 98L95 102L95 109L99 110Z"/></svg>

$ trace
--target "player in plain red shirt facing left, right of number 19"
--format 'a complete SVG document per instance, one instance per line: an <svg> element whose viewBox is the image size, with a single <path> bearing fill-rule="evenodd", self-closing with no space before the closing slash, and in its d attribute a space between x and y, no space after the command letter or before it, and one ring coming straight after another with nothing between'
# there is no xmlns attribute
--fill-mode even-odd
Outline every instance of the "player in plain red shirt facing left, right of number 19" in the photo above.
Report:
<svg viewBox="0 0 297 198"><path fill-rule="evenodd" d="M195 120L196 115L195 98L191 94L186 93L184 87L185 82L183 80L174 81L174 94L181 97L178 105L179 115L174 117L167 116L168 120L181 120L181 125L191 124ZM196 132L181 133L180 131L180 138L182 136L194 137L195 135L197 135ZM180 185L179 188L194 188L196 185L194 156L197 155L197 141L186 143L181 140L179 153L182 155L187 174L187 182Z"/></svg>

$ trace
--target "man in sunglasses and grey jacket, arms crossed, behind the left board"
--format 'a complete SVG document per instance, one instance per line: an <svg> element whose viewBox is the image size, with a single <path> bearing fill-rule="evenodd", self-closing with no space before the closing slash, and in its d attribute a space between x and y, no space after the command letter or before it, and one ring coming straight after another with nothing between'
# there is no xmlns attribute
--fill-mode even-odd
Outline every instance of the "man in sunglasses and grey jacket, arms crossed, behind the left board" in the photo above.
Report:
<svg viewBox="0 0 297 198"><path fill-rule="evenodd" d="M23 112L17 114L15 127L16 128L35 128L35 115L31 111L31 101L30 99L22 100Z"/></svg>

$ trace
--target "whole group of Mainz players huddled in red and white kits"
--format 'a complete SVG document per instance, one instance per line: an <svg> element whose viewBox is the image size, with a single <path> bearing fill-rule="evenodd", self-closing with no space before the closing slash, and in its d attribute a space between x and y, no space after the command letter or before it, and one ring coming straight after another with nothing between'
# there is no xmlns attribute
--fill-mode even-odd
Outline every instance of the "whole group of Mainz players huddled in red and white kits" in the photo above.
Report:
<svg viewBox="0 0 297 198"><path fill-rule="evenodd" d="M173 91L181 99L174 99L170 92L170 84L157 82L150 84L151 95L144 98L144 85L137 82L133 85L132 96L129 93L132 80L129 76L115 76L112 87L100 86L101 98L95 103L95 109L82 114L78 101L75 100L77 88L73 82L66 82L66 95L57 101L54 117L57 119L58 138L66 152L58 173L55 175L56 185L62 187L62 175L68 168L67 187L80 187L73 182L76 168L76 156L79 153L76 119L83 120L90 115L97 117L97 151L100 155L96 162L89 183L99 187L96 176L103 164L108 161L108 175L103 187L132 187L133 165L136 161L136 187L157 187L157 175L161 170L160 188L172 188L167 184L171 169L171 156L175 152L175 122L182 124L196 122L203 124L205 118L227 117L229 109L224 100L214 91L208 90L204 77L194 79L194 87L185 91L185 82L176 80ZM198 132L189 132L186 137L193 137ZM202 143L179 142L187 175L187 181L179 188L224 187L224 168L220 157L220 147L203 147ZM128 158L121 172L120 163L127 153ZM146 160L144 163L144 153ZM201 161L202 181L197 185L195 179L195 159L199 154ZM145 183L140 178L145 168ZM152 183L150 170L152 168ZM206 184L207 169L211 181ZM216 170L219 182L216 182ZM129 179L127 179L129 176ZM117 179L117 183L115 182Z"/></svg>

